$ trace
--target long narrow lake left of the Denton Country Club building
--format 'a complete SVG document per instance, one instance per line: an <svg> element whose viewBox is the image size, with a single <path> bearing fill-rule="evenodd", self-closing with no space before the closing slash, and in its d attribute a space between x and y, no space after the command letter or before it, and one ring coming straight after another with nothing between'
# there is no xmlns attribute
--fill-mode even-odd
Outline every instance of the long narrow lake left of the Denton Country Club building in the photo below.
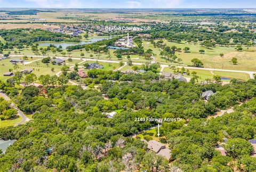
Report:
<svg viewBox="0 0 256 172"><path fill-rule="evenodd" d="M83 44L92 44L94 42L103 40L103 39L110 39L111 37L102 37L102 38L91 38L87 39L87 41L81 42L38 42L39 46L50 46L50 44L59 47L62 46L63 49L67 48L68 46L75 46L75 45L83 45Z"/></svg>

